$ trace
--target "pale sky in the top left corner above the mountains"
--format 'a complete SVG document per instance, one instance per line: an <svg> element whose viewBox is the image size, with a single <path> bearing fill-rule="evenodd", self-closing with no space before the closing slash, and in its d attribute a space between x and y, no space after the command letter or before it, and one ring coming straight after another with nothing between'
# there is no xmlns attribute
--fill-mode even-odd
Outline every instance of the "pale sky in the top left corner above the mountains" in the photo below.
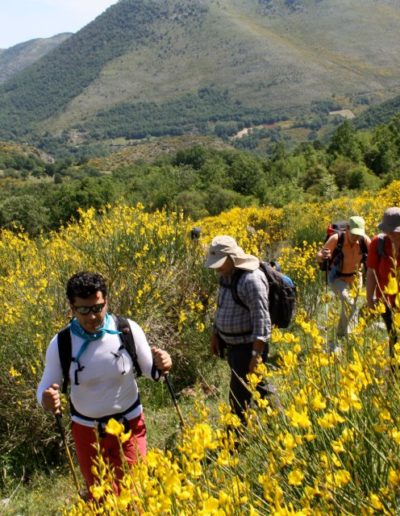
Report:
<svg viewBox="0 0 400 516"><path fill-rule="evenodd" d="M0 48L77 32L117 0L0 0Z"/></svg>

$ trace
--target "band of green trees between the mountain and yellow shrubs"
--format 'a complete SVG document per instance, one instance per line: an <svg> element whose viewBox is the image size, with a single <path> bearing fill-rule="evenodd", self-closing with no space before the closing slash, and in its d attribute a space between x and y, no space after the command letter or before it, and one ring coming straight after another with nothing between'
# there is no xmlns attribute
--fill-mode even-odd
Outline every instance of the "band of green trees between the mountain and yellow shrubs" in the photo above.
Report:
<svg viewBox="0 0 400 516"><path fill-rule="evenodd" d="M3 158L4 159L4 158ZM234 206L334 198L374 190L400 178L400 115L373 131L343 123L326 145L302 143L289 152L276 143L268 157L237 149L193 147L153 163L122 165L112 175L86 163L22 159L21 177L42 170L43 181L6 181L0 191L0 225L20 223L31 234L56 229L78 208L120 200L147 209L180 209L193 219ZM22 168L21 168L22 167ZM25 168L24 168L25 167ZM51 178L51 180L49 180Z"/></svg>

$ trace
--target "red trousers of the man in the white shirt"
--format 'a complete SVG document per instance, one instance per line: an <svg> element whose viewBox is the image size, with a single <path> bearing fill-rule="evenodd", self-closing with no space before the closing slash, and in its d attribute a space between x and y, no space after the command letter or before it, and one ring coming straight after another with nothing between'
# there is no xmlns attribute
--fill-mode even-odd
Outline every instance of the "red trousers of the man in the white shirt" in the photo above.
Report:
<svg viewBox="0 0 400 516"><path fill-rule="evenodd" d="M139 457L146 455L146 425L143 413L129 421L129 428L132 435L123 445L125 460L128 464L135 464ZM72 422L72 436L75 441L75 450L78 457L79 467L85 478L87 488L94 483L95 476L91 468L93 459L96 458L96 450L93 446L96 443L96 433L94 428ZM106 434L100 438L101 452L104 460L114 467L117 482L114 485L118 493L118 480L122 478L120 446L117 437Z"/></svg>

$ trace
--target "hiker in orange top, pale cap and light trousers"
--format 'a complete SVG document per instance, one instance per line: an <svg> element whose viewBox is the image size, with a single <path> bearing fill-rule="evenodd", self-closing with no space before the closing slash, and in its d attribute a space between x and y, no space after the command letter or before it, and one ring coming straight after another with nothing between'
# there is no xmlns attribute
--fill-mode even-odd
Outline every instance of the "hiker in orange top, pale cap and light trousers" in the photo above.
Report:
<svg viewBox="0 0 400 516"><path fill-rule="evenodd" d="M346 337L354 322L356 298L350 287L360 280L360 265L366 262L370 239L365 234L365 222L357 215L350 217L345 230L334 233L317 253L317 261L325 262L327 281L341 301L337 337Z"/></svg>

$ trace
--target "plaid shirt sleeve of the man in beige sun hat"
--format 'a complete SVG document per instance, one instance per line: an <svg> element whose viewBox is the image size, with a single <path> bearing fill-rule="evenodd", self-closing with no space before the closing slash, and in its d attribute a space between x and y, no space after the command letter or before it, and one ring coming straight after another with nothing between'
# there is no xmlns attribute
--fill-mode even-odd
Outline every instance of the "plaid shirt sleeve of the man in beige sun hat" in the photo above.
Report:
<svg viewBox="0 0 400 516"><path fill-rule="evenodd" d="M271 335L268 293L268 281L260 269L244 274L240 278L238 295L249 309L252 341L266 342Z"/></svg>

